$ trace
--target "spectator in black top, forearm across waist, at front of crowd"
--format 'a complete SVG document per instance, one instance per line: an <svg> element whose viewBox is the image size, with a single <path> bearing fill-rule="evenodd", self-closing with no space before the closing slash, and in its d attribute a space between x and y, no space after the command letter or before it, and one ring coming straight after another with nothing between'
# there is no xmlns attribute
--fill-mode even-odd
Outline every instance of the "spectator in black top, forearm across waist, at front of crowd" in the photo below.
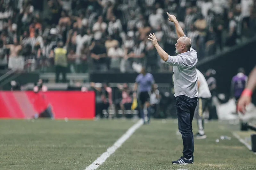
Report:
<svg viewBox="0 0 256 170"><path fill-rule="evenodd" d="M91 58L94 70L103 69L102 65L106 65L109 70L110 59L107 57L107 50L100 41L95 41L95 46L91 50Z"/></svg>

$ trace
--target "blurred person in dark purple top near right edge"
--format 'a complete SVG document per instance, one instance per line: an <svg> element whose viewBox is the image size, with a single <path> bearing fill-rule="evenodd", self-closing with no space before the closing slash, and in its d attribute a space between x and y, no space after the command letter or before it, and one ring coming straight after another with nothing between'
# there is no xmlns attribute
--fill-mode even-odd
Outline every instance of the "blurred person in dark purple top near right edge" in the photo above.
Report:
<svg viewBox="0 0 256 170"><path fill-rule="evenodd" d="M238 73L232 78L231 97L235 98L235 104L237 104L237 101L246 86L247 79L248 77L245 75L244 68L239 68Z"/></svg>

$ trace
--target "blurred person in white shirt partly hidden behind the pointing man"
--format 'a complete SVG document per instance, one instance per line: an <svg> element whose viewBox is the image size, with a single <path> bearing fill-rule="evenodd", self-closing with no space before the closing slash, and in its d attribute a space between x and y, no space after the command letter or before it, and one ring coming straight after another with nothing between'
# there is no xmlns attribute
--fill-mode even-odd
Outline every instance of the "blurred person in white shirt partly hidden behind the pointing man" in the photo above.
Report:
<svg viewBox="0 0 256 170"><path fill-rule="evenodd" d="M196 139L205 139L206 135L204 132L204 112L211 101L211 92L209 90L207 81L203 74L197 71L197 86L198 86L198 102L195 108L195 117L197 119L198 132L195 135Z"/></svg>

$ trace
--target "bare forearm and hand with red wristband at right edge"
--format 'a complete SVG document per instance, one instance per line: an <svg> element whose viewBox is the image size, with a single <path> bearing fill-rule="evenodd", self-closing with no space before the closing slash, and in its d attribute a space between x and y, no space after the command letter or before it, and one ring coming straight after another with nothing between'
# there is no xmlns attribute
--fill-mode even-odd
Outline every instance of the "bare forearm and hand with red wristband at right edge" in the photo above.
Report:
<svg viewBox="0 0 256 170"><path fill-rule="evenodd" d="M246 106L248 106L252 101L252 92L256 87L256 66L249 75L247 85L238 100L237 110L241 113L245 113Z"/></svg>

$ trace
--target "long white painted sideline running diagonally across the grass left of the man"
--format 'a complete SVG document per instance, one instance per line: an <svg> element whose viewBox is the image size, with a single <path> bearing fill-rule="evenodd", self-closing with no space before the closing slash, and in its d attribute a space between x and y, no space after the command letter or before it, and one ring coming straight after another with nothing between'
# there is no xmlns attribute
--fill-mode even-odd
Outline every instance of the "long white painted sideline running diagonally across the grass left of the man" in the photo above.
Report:
<svg viewBox="0 0 256 170"><path fill-rule="evenodd" d="M122 137L120 137L111 147L107 149L106 152L101 154L91 165L87 166L85 170L95 170L100 165L102 165L108 157L114 153L141 125L143 124L142 120L139 120L132 127L130 127Z"/></svg>

